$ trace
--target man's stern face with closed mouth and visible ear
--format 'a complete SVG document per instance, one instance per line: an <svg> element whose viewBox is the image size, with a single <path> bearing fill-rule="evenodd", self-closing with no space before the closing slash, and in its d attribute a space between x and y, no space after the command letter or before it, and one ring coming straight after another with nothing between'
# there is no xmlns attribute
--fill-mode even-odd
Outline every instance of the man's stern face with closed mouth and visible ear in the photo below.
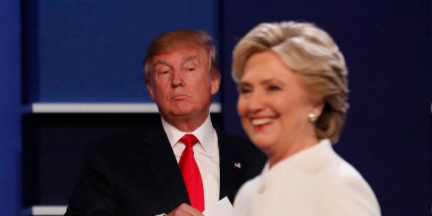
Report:
<svg viewBox="0 0 432 216"><path fill-rule="evenodd" d="M147 89L166 121L208 116L220 83L209 70L208 52L196 46L178 45L152 59Z"/></svg>

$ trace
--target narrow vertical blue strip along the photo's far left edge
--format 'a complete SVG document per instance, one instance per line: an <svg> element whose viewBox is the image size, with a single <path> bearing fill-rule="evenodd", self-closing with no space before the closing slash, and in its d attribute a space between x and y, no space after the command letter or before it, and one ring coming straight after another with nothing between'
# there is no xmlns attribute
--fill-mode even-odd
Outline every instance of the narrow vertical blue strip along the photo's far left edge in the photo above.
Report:
<svg viewBox="0 0 432 216"><path fill-rule="evenodd" d="M21 50L19 1L0 1L0 215L21 204Z"/></svg>

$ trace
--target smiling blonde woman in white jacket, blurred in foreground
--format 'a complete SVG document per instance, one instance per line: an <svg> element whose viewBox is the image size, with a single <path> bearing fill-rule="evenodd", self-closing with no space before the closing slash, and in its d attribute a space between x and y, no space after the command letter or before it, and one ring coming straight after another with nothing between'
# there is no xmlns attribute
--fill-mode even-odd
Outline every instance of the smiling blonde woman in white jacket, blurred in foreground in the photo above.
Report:
<svg viewBox="0 0 432 216"><path fill-rule="evenodd" d="M235 199L241 215L381 215L361 174L332 148L348 110L344 56L311 23L261 23L233 53L237 110L268 156Z"/></svg>

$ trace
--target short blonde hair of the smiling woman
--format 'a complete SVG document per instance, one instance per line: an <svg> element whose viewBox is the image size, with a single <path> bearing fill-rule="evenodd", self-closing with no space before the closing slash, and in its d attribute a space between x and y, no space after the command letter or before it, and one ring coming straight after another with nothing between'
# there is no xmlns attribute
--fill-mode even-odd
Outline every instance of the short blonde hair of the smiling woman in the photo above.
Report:
<svg viewBox="0 0 432 216"><path fill-rule="evenodd" d="M319 139L339 141L348 110L348 70L344 56L331 36L313 23L294 21L261 23L237 43L233 51L232 78L239 82L248 59L273 51L300 77L311 94L324 100L315 122Z"/></svg>

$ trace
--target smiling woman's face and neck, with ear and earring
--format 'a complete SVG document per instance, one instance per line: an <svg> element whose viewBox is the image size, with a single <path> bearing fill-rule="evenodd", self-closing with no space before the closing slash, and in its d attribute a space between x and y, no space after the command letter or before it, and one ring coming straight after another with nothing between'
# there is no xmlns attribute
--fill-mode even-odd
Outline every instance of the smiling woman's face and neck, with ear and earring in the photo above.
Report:
<svg viewBox="0 0 432 216"><path fill-rule="evenodd" d="M245 132L270 159L270 165L317 143L307 115L320 115L306 88L272 51L256 53L239 81L237 110Z"/></svg>

